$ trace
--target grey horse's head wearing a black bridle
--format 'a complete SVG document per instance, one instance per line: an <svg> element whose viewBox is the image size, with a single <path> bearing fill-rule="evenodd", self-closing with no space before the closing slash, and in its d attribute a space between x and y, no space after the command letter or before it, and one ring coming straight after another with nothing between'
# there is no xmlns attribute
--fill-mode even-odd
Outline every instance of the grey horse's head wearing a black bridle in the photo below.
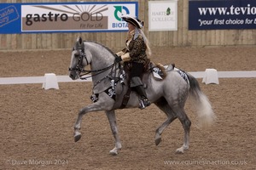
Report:
<svg viewBox="0 0 256 170"><path fill-rule="evenodd" d="M80 77L80 73L84 69L84 66L89 64L90 61L87 59L84 51L84 42L81 37L78 37L71 54L71 61L68 68L69 77L73 80L78 79Z"/></svg>

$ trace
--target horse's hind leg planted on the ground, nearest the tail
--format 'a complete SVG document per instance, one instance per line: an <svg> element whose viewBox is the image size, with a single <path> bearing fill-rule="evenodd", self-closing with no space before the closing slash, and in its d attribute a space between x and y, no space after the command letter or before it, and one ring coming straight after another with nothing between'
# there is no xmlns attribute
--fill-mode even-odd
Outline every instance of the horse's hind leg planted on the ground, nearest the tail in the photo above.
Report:
<svg viewBox="0 0 256 170"><path fill-rule="evenodd" d="M191 122L189 120L189 117L186 115L186 112L183 109L177 111L176 113L177 113L177 117L178 117L179 121L182 123L183 129L184 129L183 146L178 148L176 150L176 153L183 154L184 150L189 150L189 132L190 132Z"/></svg>

